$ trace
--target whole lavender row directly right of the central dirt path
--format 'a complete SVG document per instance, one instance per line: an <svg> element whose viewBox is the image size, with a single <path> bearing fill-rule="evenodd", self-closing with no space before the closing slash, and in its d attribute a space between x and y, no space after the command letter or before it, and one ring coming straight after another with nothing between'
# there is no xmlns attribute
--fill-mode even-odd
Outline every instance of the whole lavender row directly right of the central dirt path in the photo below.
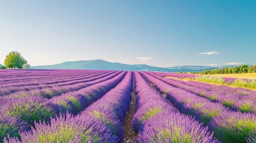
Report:
<svg viewBox="0 0 256 143"><path fill-rule="evenodd" d="M139 73L135 72L136 142L218 142L207 127L168 104Z"/></svg>

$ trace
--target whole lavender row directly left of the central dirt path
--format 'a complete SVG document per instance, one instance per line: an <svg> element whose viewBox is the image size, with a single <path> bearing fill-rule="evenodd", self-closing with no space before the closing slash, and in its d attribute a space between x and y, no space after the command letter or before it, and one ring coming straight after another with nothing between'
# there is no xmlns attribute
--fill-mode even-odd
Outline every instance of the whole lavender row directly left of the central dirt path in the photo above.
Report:
<svg viewBox="0 0 256 143"><path fill-rule="evenodd" d="M121 122L129 108L132 91L132 73L100 100L94 102L78 116L69 113L51 119L50 124L36 123L30 132L5 142L121 142L124 131Z"/></svg>

